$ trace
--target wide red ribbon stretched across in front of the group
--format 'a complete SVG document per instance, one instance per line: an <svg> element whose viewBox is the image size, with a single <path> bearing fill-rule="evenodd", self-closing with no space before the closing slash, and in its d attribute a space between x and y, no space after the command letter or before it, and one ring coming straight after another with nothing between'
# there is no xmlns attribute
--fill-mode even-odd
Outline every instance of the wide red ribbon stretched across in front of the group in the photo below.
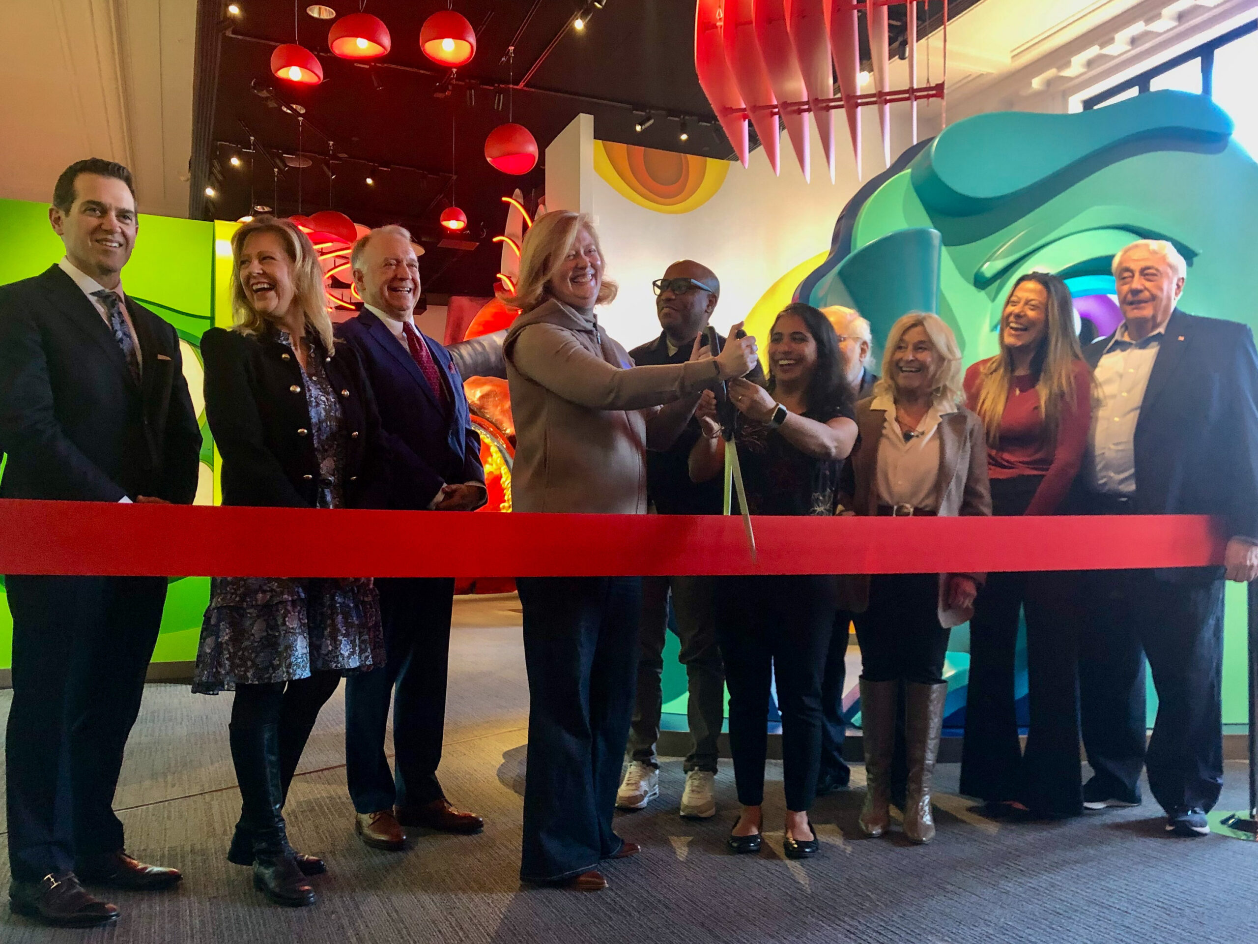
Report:
<svg viewBox="0 0 1258 944"><path fill-rule="evenodd" d="M1222 564L1200 515L468 515L0 501L0 574L616 576L1115 570Z"/></svg>

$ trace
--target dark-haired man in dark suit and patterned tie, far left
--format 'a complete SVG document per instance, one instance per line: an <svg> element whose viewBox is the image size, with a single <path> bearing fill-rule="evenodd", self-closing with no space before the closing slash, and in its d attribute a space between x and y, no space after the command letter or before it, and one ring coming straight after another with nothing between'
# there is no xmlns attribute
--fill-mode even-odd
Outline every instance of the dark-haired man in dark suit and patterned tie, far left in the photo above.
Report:
<svg viewBox="0 0 1258 944"><path fill-rule="evenodd" d="M137 230L131 172L92 159L57 181L65 257L0 288L0 497L179 502L201 434L175 329L122 291ZM164 576L5 579L13 610L6 754L13 910L111 921L79 881L165 889L174 868L123 850L113 792L157 642Z"/></svg>

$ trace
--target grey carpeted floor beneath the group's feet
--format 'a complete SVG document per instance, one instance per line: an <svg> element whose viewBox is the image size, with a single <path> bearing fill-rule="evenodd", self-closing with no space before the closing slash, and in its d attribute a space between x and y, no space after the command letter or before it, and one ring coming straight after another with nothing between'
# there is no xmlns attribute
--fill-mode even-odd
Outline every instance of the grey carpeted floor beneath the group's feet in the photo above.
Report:
<svg viewBox="0 0 1258 944"><path fill-rule="evenodd" d="M621 816L643 855L610 863L611 887L589 895L517 880L527 691L518 604L498 597L455 607L442 782L487 819L483 834L415 836L405 853L355 838L345 792L343 702L328 704L287 809L301 850L326 856L314 907L272 906L249 871L224 860L239 812L228 755L230 696L153 685L132 734L117 806L130 850L185 872L174 892L118 894L117 925L55 931L0 914L0 941L930 941L931 944L1194 944L1258 941L1258 845L1210 836L1170 840L1151 801L1060 824L998 826L947 793L937 840L859 840L860 790L818 801L816 860L781 856L781 765L771 763L766 852L732 857L736 802L725 764L721 811L678 818L683 775L664 764L659 801ZM8 692L0 714L8 715ZM863 770L855 769L862 780ZM1244 804L1244 768L1229 764L1224 808ZM8 865L0 880L8 882Z"/></svg>

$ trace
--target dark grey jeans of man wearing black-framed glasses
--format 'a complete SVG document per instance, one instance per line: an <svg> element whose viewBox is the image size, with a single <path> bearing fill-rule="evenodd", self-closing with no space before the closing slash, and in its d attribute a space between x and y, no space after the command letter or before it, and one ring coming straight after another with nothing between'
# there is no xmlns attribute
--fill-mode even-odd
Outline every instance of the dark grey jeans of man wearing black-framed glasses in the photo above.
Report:
<svg viewBox="0 0 1258 944"><path fill-rule="evenodd" d="M658 767L655 741L663 706L659 680L664 671L664 633L669 595L682 641L678 660L686 666L686 717L693 748L684 769L716 773L717 738L725 721L725 668L716 642L716 583L710 576L647 576L642 582L638 627L638 699L629 729L630 760Z"/></svg>

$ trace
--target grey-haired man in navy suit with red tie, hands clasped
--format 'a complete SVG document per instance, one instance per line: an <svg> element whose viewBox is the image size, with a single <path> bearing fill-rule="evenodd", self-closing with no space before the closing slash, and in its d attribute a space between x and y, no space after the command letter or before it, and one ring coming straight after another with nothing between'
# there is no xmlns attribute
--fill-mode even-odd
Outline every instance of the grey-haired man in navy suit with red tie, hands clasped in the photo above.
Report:
<svg viewBox="0 0 1258 944"><path fill-rule="evenodd" d="M362 312L336 326L362 359L391 452L395 509L473 511L484 505L481 438L463 381L442 345L414 320L419 259L410 233L384 227L351 254ZM403 827L476 833L481 817L445 799L437 779L445 725L445 678L454 580L376 582L385 631L385 667L352 675L345 688L345 755L355 828L376 848L401 850ZM394 765L385 725L394 701Z"/></svg>

